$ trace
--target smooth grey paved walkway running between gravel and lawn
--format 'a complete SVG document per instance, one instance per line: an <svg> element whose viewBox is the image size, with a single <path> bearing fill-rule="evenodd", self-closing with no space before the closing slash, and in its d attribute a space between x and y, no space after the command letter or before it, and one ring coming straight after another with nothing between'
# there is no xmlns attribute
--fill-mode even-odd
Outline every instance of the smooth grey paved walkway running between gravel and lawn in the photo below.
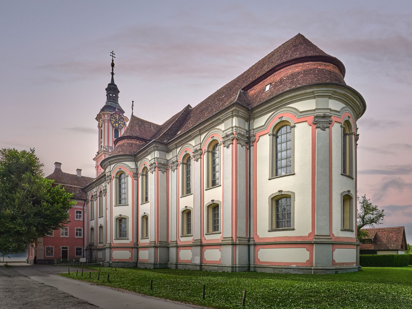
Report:
<svg viewBox="0 0 412 309"><path fill-rule="evenodd" d="M67 272L67 266L14 266L3 267L1 272L17 271L30 279L55 287L62 292L73 295L100 308L107 309L187 309L190 305L180 304L167 300L137 295L135 293L123 293L102 286L94 286L83 281L68 279L54 274ZM197 307L197 306L196 306ZM200 307L197 307L200 308Z"/></svg>

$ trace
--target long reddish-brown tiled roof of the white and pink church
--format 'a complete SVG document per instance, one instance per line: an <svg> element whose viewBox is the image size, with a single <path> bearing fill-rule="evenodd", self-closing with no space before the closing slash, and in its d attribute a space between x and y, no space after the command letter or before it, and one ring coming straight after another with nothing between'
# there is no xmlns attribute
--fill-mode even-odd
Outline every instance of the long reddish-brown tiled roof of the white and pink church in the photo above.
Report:
<svg viewBox="0 0 412 309"><path fill-rule="evenodd" d="M345 67L339 59L326 54L303 35L295 35L194 108L187 105L162 125L131 116L112 155L133 154L150 140L168 143L233 102L253 107L276 94L304 85L344 85L344 75ZM270 89L265 91L269 83Z"/></svg>

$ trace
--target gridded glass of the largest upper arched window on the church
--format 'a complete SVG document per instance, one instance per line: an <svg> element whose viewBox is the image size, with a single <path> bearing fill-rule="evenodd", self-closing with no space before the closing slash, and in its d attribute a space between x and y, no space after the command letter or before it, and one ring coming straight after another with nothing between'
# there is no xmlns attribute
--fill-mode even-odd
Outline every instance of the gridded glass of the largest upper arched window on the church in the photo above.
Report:
<svg viewBox="0 0 412 309"><path fill-rule="evenodd" d="M276 176L292 173L292 131L289 125L276 132Z"/></svg>

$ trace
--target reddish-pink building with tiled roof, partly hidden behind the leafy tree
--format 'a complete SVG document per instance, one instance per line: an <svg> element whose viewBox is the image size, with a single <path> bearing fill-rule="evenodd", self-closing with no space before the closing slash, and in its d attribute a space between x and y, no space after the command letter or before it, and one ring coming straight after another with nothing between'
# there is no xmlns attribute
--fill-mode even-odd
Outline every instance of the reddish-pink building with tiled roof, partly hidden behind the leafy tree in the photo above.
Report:
<svg viewBox="0 0 412 309"><path fill-rule="evenodd" d="M82 176L82 170L77 169L76 174L64 173L61 170L61 163L54 164L54 172L47 176L54 180L55 185L63 186L67 192L73 193L73 200L77 202L69 213L70 222L64 229L52 232L50 236L37 239L34 247L28 248L28 262L33 264L33 258L37 256L37 264L54 264L56 260L65 261L70 258L82 258L88 253L86 236L84 231L88 225L84 220L84 206L87 200L83 187L93 178Z"/></svg>

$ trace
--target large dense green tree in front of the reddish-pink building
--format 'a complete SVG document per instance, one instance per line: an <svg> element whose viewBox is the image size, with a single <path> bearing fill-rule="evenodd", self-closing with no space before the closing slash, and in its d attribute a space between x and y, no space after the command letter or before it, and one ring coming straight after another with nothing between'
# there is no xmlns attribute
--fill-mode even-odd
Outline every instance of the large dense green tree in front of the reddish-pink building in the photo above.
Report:
<svg viewBox="0 0 412 309"><path fill-rule="evenodd" d="M21 252L69 221L72 194L44 178L34 149L0 150L0 255Z"/></svg>

